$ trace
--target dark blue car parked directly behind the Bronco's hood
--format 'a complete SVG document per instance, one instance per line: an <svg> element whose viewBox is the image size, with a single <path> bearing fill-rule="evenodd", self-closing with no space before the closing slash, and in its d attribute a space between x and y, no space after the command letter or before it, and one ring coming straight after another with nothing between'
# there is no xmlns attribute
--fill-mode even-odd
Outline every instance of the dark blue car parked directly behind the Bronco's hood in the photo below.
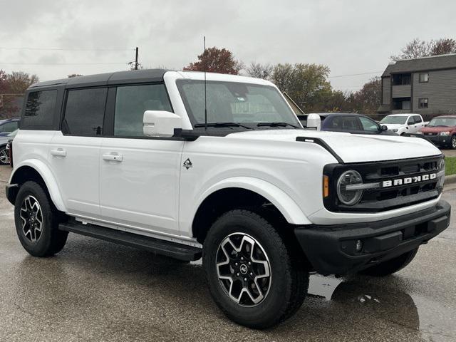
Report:
<svg viewBox="0 0 456 342"><path fill-rule="evenodd" d="M355 113L327 113L326 118L320 114L321 130L332 132L347 132L353 134L381 134L381 135L398 135L386 126L379 125L366 115Z"/></svg>

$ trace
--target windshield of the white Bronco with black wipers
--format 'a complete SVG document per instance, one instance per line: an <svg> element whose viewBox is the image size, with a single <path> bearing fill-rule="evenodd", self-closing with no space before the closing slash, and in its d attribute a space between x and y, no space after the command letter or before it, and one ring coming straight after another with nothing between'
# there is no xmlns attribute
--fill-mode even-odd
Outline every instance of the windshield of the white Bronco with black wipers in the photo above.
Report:
<svg viewBox="0 0 456 342"><path fill-rule="evenodd" d="M177 88L194 127L204 124L204 81L178 80ZM207 123L237 123L254 128L259 123L286 123L301 128L294 112L272 86L207 81L206 88Z"/></svg>

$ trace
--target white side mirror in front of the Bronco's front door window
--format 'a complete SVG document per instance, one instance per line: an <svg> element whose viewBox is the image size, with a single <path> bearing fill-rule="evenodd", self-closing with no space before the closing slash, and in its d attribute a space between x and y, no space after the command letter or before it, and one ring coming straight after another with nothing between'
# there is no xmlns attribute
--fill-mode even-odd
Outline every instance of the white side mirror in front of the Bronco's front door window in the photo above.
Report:
<svg viewBox="0 0 456 342"><path fill-rule="evenodd" d="M172 137L175 128L182 128L182 118L166 110L146 110L142 125L148 137Z"/></svg>

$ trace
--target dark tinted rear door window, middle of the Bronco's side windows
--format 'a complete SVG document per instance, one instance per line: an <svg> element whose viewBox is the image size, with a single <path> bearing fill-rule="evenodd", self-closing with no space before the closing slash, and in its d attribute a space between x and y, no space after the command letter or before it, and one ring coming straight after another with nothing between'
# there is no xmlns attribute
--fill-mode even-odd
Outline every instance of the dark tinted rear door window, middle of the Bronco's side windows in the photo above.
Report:
<svg viewBox="0 0 456 342"><path fill-rule="evenodd" d="M63 133L96 136L103 133L108 88L68 90Z"/></svg>

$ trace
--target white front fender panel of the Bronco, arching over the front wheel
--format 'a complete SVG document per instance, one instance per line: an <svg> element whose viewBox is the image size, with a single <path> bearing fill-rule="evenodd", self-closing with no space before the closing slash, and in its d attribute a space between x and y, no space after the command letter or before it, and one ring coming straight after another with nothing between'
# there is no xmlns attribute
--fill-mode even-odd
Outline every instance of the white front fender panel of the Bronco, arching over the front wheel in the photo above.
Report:
<svg viewBox="0 0 456 342"><path fill-rule="evenodd" d="M180 229L187 236L199 204L229 187L257 192L292 224L310 224L307 215L323 206L323 166L336 162L318 145L207 136L185 143L187 159L192 167L181 167L180 180Z"/></svg>

